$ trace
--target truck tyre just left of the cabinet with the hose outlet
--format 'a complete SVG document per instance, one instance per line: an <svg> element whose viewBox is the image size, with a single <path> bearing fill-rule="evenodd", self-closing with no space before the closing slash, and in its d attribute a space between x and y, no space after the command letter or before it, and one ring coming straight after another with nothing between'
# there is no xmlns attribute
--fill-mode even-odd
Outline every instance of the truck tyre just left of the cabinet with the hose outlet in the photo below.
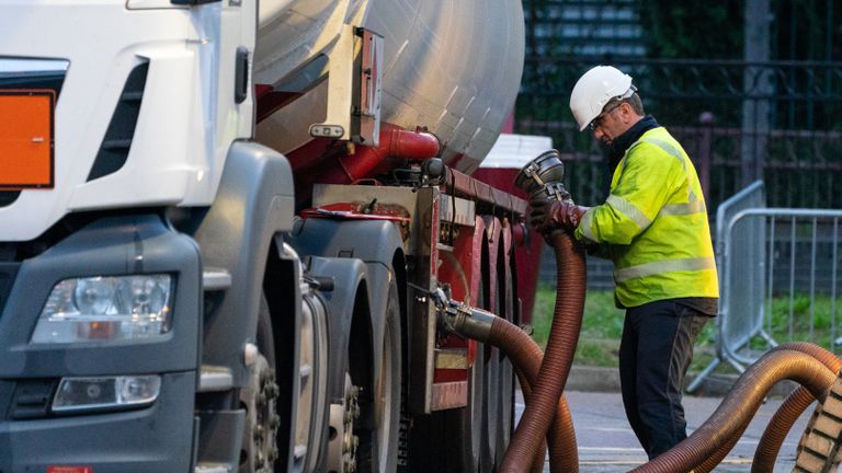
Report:
<svg viewBox="0 0 842 473"><path fill-rule="evenodd" d="M373 393L373 431L360 432L360 471L394 472L398 462L401 399L401 332L400 302L395 280L389 285L383 331L383 355Z"/></svg>

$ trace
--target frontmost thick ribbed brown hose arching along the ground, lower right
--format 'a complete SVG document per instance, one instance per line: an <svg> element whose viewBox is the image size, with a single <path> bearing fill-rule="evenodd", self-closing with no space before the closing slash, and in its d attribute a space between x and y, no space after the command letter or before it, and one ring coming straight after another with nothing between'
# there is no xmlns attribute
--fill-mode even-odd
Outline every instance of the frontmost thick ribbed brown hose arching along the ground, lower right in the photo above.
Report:
<svg viewBox="0 0 842 473"><path fill-rule="evenodd" d="M714 455L754 416L776 382L790 379L821 396L835 374L816 358L788 349L772 350L750 366L710 417L690 437L633 472L672 473L691 471Z"/></svg>

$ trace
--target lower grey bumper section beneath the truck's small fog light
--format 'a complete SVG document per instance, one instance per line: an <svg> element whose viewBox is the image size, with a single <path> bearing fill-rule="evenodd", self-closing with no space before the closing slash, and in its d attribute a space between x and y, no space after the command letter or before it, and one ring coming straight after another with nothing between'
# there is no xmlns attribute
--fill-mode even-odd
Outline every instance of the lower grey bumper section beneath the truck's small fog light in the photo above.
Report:
<svg viewBox="0 0 842 473"><path fill-rule="evenodd" d="M8 399L14 382L0 384ZM189 472L193 458L195 372L162 377L161 394L144 409L0 423L0 471L92 473ZM79 470L84 471L84 470Z"/></svg>

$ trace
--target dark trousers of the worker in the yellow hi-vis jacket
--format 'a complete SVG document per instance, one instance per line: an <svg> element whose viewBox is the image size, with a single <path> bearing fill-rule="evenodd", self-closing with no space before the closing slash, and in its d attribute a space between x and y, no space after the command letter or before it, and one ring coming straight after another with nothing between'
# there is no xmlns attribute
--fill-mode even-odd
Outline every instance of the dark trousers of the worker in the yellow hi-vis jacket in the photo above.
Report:
<svg viewBox="0 0 842 473"><path fill-rule="evenodd" d="M681 391L709 318L672 300L626 310L619 382L632 429L653 459L687 437Z"/></svg>

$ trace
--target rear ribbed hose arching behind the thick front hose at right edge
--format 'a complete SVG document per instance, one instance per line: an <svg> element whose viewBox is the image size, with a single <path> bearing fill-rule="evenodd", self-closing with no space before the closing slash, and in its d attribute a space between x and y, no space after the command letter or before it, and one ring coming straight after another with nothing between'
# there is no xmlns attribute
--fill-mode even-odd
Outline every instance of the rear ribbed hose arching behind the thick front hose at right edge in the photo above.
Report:
<svg viewBox="0 0 842 473"><path fill-rule="evenodd" d="M842 359L818 345L808 343L788 343L778 348L792 349L812 356L824 364L828 369L838 373L842 369ZM770 419L763 436L760 438L754 460L751 463L752 473L771 472L775 465L775 459L781 451L787 432L793 428L801 413L816 401L816 397L804 387L798 387L786 397L772 419Z"/></svg>

